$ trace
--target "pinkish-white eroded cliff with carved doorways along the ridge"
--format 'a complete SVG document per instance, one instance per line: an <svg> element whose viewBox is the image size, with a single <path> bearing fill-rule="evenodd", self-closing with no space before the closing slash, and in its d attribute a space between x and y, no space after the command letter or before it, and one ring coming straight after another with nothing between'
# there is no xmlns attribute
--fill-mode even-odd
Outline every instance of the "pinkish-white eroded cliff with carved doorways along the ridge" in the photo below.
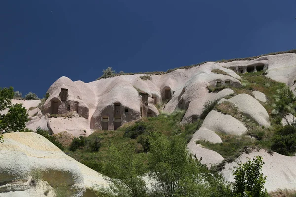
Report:
<svg viewBox="0 0 296 197"><path fill-rule="evenodd" d="M291 53L263 56L251 61L207 62L190 69L177 69L163 75L149 75L151 80L140 79L143 75L123 75L84 83L61 77L47 91L50 96L44 104L44 114L76 114L81 119L79 124L83 122L79 128L85 128L87 131L84 134L76 131L71 133L71 129L65 127L50 126L53 133L67 130L75 136L89 135L93 129L116 130L129 121L157 116L159 112L156 104L164 104L163 111L166 113L172 113L176 108L185 109L186 113L181 123L191 123L201 115L203 105L208 100L231 95L234 93L231 87L241 86L241 78L237 73L265 70L268 73L266 76L284 82L294 89L295 62L296 54ZM226 74L212 72L217 69ZM209 86L224 85L229 88L209 92ZM266 99L258 92L254 92L254 96L262 102ZM252 102L248 104L253 108L255 99L247 99L244 102L248 100ZM251 118L258 120L260 125L269 126L265 112L261 112L257 117ZM246 114L248 115L247 112ZM39 120L32 120L35 124L30 128L45 125L43 120L38 124Z"/></svg>

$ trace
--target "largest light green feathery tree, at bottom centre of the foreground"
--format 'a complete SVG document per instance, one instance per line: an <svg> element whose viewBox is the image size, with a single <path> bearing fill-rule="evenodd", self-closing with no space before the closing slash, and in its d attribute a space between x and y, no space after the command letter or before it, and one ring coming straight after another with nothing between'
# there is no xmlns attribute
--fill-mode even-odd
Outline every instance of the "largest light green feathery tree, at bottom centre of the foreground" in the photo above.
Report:
<svg viewBox="0 0 296 197"><path fill-rule="evenodd" d="M180 136L151 138L148 155L149 176L155 181L153 193L161 197L209 196L203 184L207 168L189 154Z"/></svg>

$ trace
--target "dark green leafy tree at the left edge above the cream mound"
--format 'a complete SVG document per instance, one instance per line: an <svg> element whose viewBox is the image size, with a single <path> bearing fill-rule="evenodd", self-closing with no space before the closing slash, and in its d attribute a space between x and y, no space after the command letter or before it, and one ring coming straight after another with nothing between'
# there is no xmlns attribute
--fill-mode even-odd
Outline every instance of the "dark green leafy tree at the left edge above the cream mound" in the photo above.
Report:
<svg viewBox="0 0 296 197"><path fill-rule="evenodd" d="M21 131L28 121L28 114L22 104L11 105L14 97L13 88L0 88L0 111L8 110L6 114L0 114L0 133L5 130ZM3 136L0 137L0 142Z"/></svg>

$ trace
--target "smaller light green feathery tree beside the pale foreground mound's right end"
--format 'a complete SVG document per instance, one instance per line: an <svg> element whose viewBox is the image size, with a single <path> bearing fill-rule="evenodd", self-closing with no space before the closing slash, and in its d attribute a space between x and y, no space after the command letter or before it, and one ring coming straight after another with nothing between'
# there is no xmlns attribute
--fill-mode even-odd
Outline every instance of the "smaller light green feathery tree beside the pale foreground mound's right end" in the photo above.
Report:
<svg viewBox="0 0 296 197"><path fill-rule="evenodd" d="M146 184L143 174L146 167L143 164L144 154L137 154L134 143L126 143L119 147L110 147L111 160L105 169L108 188L100 188L100 197L145 197ZM112 178L110 178L112 177Z"/></svg>

